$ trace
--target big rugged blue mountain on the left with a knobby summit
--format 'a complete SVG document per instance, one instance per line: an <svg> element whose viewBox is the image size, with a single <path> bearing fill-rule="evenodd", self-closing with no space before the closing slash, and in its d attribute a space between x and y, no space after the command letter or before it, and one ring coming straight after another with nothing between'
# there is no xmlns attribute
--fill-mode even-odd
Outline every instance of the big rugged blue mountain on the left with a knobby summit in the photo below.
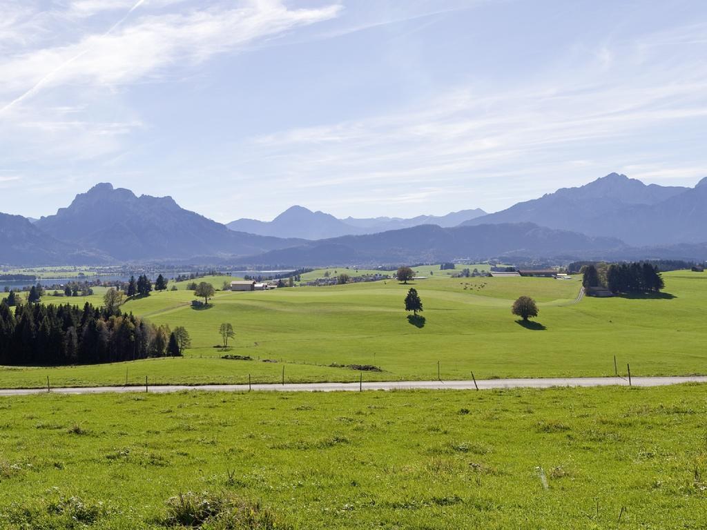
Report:
<svg viewBox="0 0 707 530"><path fill-rule="evenodd" d="M233 232L181 208L171 197L135 196L97 184L67 208L35 223L57 240L99 249L119 261L245 255L291 247L301 240Z"/></svg>

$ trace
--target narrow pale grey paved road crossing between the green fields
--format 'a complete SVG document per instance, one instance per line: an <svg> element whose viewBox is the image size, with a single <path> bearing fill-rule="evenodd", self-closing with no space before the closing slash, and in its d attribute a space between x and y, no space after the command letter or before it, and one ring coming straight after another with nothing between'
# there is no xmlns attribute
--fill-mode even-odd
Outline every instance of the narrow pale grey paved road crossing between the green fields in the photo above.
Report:
<svg viewBox="0 0 707 530"><path fill-rule="evenodd" d="M667 384L707 383L707 376L686 377L632 377L631 384L635 387L660 387ZM553 379L483 379L477 380L479 389L500 388L549 388L549 387L607 387L619 385L626 387L628 379L623 377L559 377ZM260 391L358 391L363 390L474 390L473 381L391 381L359 383L299 383L299 384L254 384L252 390ZM197 387L170 384L148 387L148 391L164 394L184 390L202 391L247 391L247 384L204 384ZM51 389L54 394L102 394L105 392L144 392L145 387L82 387ZM47 389L0 389L0 396L25 396L29 394L46 394Z"/></svg>

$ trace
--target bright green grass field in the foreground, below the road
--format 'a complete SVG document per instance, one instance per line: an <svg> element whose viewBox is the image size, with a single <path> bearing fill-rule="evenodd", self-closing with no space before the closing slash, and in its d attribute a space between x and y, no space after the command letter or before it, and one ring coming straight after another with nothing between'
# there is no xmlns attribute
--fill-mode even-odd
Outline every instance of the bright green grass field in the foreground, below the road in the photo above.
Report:
<svg viewBox="0 0 707 530"><path fill-rule="evenodd" d="M4 398L0 527L159 529L170 497L207 492L260 502L278 528L705 528L706 395Z"/></svg>

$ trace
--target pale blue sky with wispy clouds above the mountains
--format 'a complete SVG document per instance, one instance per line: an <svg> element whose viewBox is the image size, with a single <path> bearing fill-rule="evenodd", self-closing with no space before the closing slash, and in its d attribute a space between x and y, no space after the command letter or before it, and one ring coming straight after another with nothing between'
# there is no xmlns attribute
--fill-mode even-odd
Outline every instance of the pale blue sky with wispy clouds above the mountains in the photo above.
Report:
<svg viewBox="0 0 707 530"><path fill-rule="evenodd" d="M707 176L707 2L0 0L0 211L228 222Z"/></svg>

